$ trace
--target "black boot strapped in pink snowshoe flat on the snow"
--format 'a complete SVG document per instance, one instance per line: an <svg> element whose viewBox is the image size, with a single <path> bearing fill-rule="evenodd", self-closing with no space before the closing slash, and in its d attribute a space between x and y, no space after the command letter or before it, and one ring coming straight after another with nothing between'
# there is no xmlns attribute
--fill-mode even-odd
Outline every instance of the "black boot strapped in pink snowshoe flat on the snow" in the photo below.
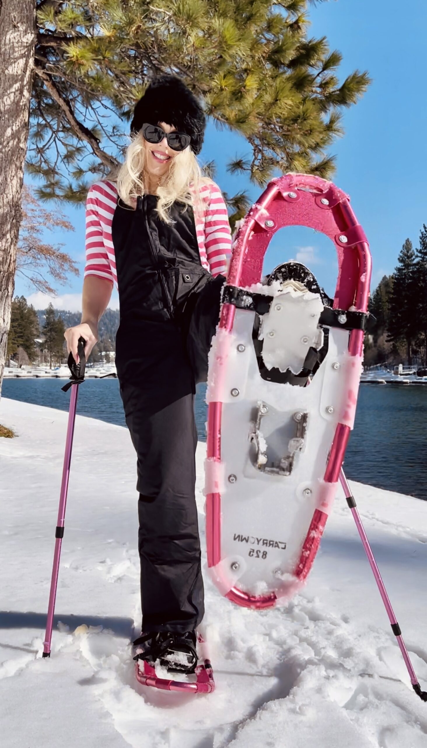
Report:
<svg viewBox="0 0 427 748"><path fill-rule="evenodd" d="M200 634L155 631L142 634L134 646L135 674L141 684L189 693L214 690L214 674ZM173 679L172 674L185 680Z"/></svg>

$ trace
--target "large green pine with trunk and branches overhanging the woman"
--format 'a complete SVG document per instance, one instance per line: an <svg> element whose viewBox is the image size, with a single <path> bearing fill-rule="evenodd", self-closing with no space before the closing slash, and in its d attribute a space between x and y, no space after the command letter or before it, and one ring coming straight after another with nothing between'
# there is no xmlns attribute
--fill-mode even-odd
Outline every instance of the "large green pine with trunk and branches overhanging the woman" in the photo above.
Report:
<svg viewBox="0 0 427 748"><path fill-rule="evenodd" d="M149 80L177 73L219 128L246 138L250 156L236 155L229 171L243 171L258 186L285 171L329 177L328 147L343 133L341 111L358 101L370 79L355 70L342 80L340 52L325 37L308 37L309 5L3 2L0 100L13 104L0 118L0 381L27 145L27 171L42 180L37 197L83 203L89 183L122 162L132 110ZM111 112L122 127L111 123ZM232 221L247 200L245 193L231 197Z"/></svg>

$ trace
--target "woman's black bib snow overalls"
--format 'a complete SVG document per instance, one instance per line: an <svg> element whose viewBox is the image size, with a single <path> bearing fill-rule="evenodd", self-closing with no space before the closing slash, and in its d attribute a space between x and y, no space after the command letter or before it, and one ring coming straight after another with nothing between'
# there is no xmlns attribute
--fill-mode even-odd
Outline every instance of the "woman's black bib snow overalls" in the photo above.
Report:
<svg viewBox="0 0 427 748"><path fill-rule="evenodd" d="M202 267L193 211L174 224L118 198L112 236L119 288L116 368L137 453L143 631L191 631L204 614L195 500L196 384L206 381L222 275Z"/></svg>

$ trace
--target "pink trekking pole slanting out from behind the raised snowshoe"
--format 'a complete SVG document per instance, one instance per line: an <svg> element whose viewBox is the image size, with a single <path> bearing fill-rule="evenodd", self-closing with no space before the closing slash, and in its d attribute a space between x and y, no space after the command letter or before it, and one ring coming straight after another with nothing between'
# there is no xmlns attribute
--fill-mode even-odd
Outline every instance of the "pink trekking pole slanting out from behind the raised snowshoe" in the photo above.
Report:
<svg viewBox="0 0 427 748"><path fill-rule="evenodd" d="M382 601L384 602L385 610L387 610L387 616L390 619L391 630L393 631L393 634L396 637L397 643L399 644L399 649L402 652L402 657L405 660L405 665L408 668L408 673L411 678L412 687L415 693L417 693L417 696L420 696L420 699L427 702L427 691L421 690L417 675L415 675L414 668L409 658L408 649L406 649L405 642L402 639L402 631L400 631L400 626L396 620L396 616L394 615L393 607L391 607L390 598L387 595L387 590L385 589L384 582L382 580L380 571L378 569L378 565L375 561L372 548L370 547L370 542L367 539L367 533L365 533L364 526L361 521L361 517L359 515L358 509L356 508L355 498L352 496L352 491L350 491L349 484L347 482L346 476L344 475L344 471L342 468L340 472L340 482L341 482L341 485L343 486L344 493L346 494L346 501L352 512L353 518L356 523L356 527L358 528L358 533L361 536L361 542L363 543L365 552L368 557L368 561L370 562L370 567L373 570L375 582L378 585L378 589L379 589Z"/></svg>

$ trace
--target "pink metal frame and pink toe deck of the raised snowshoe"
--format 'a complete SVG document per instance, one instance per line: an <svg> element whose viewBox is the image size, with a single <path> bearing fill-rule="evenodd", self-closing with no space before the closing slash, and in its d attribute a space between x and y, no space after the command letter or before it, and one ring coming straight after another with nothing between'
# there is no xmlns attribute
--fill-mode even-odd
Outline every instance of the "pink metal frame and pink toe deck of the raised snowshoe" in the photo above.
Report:
<svg viewBox="0 0 427 748"><path fill-rule="evenodd" d="M273 234L284 226L307 226L328 236L337 249L338 277L334 308L366 312L370 292L371 256L367 238L352 211L349 197L331 182L307 174L287 174L272 180L260 199L249 210L237 233L233 247L228 284L248 287L262 277L264 255ZM231 332L235 307L223 304L219 328ZM364 332L349 334L349 355L361 361ZM208 405L207 457L221 462L222 402ZM338 423L328 457L323 480L337 483L349 440L350 426ZM321 509L314 511L305 537L294 575L302 583L308 575L325 527L328 515ZM221 494L206 496L206 536L208 566L221 560ZM231 587L226 597L243 607L266 608L275 605L274 592L250 595Z"/></svg>

